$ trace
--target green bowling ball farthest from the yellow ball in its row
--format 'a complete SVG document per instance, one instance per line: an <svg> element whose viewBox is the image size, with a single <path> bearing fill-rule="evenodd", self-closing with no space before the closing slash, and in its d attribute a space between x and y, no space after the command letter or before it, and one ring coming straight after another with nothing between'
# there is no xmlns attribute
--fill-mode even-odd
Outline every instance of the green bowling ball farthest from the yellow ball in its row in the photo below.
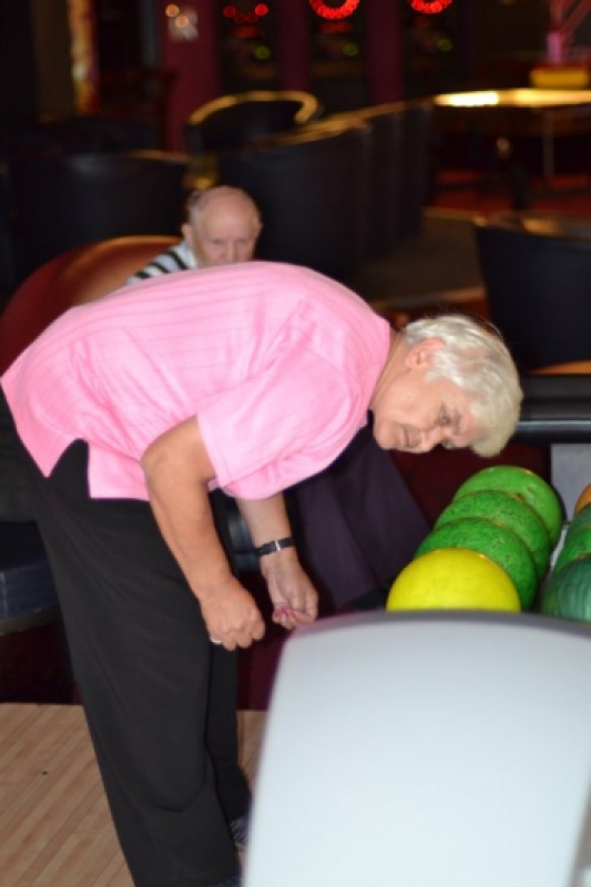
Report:
<svg viewBox="0 0 591 887"><path fill-rule="evenodd" d="M550 537L550 547L554 548L562 531L562 502L552 487L539 475L513 465L495 465L468 478L454 499L460 499L476 490L501 490L522 499L542 519Z"/></svg>

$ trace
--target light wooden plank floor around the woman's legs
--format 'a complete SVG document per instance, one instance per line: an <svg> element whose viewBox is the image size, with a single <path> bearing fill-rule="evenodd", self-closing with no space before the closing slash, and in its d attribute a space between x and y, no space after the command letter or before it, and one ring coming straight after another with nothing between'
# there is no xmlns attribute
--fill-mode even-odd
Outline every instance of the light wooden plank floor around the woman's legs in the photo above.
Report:
<svg viewBox="0 0 591 887"><path fill-rule="evenodd" d="M254 781L263 712L241 712ZM0 704L1 887L132 887L79 705Z"/></svg>

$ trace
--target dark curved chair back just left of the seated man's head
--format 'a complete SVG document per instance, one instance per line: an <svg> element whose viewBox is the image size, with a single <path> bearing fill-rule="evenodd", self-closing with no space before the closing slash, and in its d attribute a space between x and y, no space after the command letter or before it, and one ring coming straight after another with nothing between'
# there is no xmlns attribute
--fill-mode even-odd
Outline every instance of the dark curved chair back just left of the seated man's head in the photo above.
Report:
<svg viewBox="0 0 591 887"><path fill-rule="evenodd" d="M9 164L17 283L75 246L180 231L188 159L164 152L65 154Z"/></svg>

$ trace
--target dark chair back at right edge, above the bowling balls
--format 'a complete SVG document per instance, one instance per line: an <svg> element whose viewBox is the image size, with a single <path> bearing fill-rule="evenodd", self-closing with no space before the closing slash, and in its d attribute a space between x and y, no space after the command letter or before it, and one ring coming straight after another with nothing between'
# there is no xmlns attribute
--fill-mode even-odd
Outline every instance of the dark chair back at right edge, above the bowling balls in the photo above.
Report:
<svg viewBox="0 0 591 887"><path fill-rule="evenodd" d="M591 222L499 213L475 224L490 319L522 371L591 358Z"/></svg>

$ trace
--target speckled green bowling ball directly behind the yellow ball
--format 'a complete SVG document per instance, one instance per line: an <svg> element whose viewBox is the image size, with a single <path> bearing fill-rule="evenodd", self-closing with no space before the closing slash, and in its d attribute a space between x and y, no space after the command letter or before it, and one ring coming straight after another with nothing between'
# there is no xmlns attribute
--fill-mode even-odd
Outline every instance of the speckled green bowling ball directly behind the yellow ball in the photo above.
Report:
<svg viewBox="0 0 591 887"><path fill-rule="evenodd" d="M538 571L528 547L507 527L487 518L466 518L436 528L420 543L417 555L439 548L467 548L486 554L511 579L521 606L533 602Z"/></svg>

